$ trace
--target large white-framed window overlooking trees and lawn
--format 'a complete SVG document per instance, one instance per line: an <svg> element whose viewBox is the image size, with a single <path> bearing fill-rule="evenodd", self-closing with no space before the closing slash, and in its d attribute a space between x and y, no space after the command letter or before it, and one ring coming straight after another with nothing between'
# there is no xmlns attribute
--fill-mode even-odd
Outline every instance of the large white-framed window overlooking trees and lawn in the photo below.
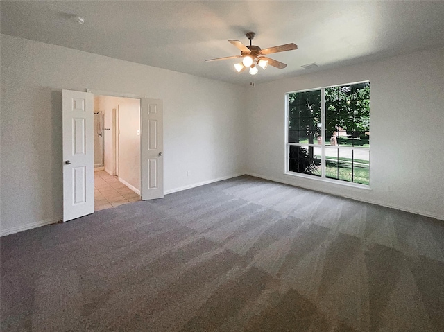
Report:
<svg viewBox="0 0 444 332"><path fill-rule="evenodd" d="M370 184L370 82L291 92L287 106L287 173Z"/></svg>

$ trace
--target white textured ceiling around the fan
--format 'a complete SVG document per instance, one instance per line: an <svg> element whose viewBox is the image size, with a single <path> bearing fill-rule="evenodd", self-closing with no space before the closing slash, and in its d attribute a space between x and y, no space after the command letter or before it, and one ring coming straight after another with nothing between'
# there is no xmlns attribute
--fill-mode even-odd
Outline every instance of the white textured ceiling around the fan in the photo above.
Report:
<svg viewBox="0 0 444 332"><path fill-rule="evenodd" d="M248 85L444 46L444 1L1 1L1 33L111 58ZM70 15L85 17L76 24ZM227 40L288 67L234 70ZM318 68L303 69L316 62Z"/></svg>

